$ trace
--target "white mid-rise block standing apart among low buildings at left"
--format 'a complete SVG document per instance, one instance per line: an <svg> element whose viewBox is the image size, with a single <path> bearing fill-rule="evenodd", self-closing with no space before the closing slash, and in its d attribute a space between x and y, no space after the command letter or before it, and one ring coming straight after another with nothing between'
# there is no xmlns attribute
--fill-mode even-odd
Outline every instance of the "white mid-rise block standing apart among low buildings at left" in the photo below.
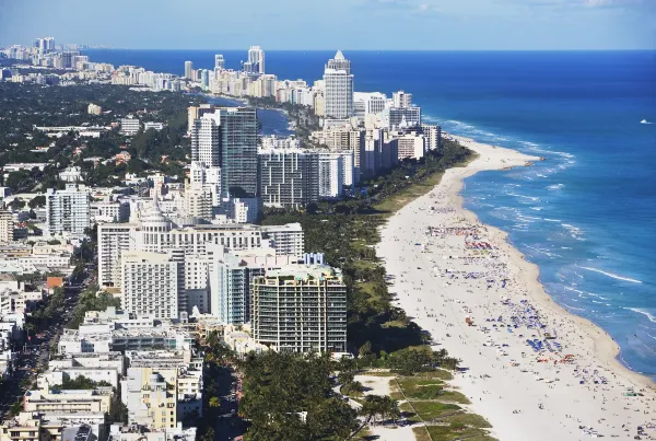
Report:
<svg viewBox="0 0 656 441"><path fill-rule="evenodd" d="M84 236L91 227L91 196L86 187L67 184L62 190L48 188L46 223L49 235Z"/></svg>

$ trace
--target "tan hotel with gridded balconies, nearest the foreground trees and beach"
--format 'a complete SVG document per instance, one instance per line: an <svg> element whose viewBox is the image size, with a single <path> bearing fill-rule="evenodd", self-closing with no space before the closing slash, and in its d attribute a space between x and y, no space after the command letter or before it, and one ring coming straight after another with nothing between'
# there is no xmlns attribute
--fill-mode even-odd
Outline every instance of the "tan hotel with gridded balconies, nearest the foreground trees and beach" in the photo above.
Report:
<svg viewBox="0 0 656 441"><path fill-rule="evenodd" d="M347 287L329 266L290 265L253 279L251 330L281 351L347 350Z"/></svg>

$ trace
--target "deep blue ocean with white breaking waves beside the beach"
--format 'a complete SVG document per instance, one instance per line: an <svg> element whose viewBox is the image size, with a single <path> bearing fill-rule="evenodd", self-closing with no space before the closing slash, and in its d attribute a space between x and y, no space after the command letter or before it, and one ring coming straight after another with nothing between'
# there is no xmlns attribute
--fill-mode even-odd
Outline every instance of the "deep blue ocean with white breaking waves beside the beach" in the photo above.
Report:
<svg viewBox="0 0 656 441"><path fill-rule="evenodd" d="M246 51L89 50L180 74ZM280 79L320 79L333 51L267 51ZM656 51L348 51L355 90L403 89L449 132L544 156L466 181L466 207L540 268L547 292L656 378ZM269 116L268 116L269 117ZM646 120L649 124L642 124ZM284 134L272 117L268 132ZM280 126L278 126L280 124ZM273 127L273 128L271 128Z"/></svg>

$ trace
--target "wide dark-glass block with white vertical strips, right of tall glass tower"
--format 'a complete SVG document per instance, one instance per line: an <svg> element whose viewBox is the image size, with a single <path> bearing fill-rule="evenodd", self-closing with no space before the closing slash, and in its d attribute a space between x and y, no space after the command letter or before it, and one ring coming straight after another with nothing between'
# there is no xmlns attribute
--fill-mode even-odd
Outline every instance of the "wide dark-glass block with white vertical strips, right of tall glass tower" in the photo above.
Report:
<svg viewBox="0 0 656 441"><path fill-rule="evenodd" d="M266 207L297 209L318 200L318 154L300 149L268 149L258 155L260 197Z"/></svg>

